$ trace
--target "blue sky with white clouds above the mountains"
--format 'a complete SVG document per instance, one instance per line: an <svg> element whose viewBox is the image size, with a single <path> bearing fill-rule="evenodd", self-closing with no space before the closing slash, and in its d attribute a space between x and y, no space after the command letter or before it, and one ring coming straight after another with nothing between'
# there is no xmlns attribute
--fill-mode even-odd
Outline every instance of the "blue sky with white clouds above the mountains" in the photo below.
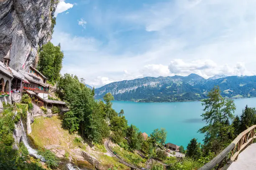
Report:
<svg viewBox="0 0 256 170"><path fill-rule="evenodd" d="M254 0L61 0L63 69L100 87L146 76L256 75Z"/></svg>

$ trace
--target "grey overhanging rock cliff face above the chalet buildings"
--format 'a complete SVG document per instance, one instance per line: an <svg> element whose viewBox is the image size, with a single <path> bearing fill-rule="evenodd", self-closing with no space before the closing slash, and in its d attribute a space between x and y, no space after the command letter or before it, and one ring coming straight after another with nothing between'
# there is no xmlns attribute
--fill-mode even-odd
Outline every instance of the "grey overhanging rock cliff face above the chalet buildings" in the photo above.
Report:
<svg viewBox="0 0 256 170"><path fill-rule="evenodd" d="M37 65L38 47L51 40L57 0L0 0L0 60L10 51L10 67Z"/></svg>

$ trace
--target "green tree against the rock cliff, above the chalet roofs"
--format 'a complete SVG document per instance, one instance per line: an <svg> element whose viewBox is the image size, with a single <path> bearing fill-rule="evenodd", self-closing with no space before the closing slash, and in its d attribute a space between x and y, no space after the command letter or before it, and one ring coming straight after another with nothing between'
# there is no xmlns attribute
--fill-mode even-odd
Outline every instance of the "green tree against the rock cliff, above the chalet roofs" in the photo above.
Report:
<svg viewBox="0 0 256 170"><path fill-rule="evenodd" d="M52 24L55 21L52 18ZM43 45L40 49L37 69L48 78L48 81L55 83L59 80L64 57L60 44L54 46L51 42Z"/></svg>

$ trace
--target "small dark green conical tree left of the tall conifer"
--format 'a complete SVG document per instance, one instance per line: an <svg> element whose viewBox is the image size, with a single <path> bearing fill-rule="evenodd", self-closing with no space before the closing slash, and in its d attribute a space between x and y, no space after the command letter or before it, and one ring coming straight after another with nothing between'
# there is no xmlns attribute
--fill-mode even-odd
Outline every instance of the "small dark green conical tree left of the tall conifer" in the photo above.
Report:
<svg viewBox="0 0 256 170"><path fill-rule="evenodd" d="M197 139L193 138L187 145L186 157L197 160L201 156L200 144L197 143Z"/></svg>

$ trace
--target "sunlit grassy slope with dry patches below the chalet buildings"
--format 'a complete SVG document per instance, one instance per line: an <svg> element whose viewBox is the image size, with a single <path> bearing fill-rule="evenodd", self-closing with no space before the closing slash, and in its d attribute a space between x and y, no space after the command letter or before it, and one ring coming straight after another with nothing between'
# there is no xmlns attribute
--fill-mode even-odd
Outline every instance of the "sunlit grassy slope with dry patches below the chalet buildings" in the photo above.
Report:
<svg viewBox="0 0 256 170"><path fill-rule="evenodd" d="M68 130L62 128L62 120L58 116L36 117L31 128L32 133L29 137L37 148L64 150L67 159L71 157L79 165L82 164L84 168L94 169L87 161L81 161L82 157L79 152L82 150L100 160L106 169L113 167L118 167L118 170L129 169L119 163L116 158L108 156L103 145L95 144L95 147L91 148L86 143L80 142L81 137L78 134L70 134Z"/></svg>

